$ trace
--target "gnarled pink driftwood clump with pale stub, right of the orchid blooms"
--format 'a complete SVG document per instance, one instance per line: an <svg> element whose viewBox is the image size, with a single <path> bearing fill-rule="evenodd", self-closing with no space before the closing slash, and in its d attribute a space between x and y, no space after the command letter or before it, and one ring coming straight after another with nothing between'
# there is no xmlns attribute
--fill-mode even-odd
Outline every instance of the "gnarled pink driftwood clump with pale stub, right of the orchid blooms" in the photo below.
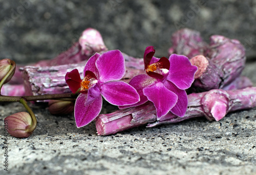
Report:
<svg viewBox="0 0 256 175"><path fill-rule="evenodd" d="M212 35L206 44L199 32L181 29L172 35L172 41L168 53L185 55L199 68L195 88L222 89L237 79L245 67L245 48L236 39Z"/></svg>

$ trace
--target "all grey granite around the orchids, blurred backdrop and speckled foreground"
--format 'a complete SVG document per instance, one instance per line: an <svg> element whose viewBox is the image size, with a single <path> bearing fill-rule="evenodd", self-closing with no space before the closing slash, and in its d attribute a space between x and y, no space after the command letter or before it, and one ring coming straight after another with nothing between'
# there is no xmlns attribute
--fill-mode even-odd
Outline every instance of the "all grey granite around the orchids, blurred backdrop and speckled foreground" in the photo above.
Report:
<svg viewBox="0 0 256 175"><path fill-rule="evenodd" d="M248 62L243 75L256 86L256 1L0 0L0 59L51 59L89 27L109 49L143 57L148 45L167 55L181 27L239 39ZM115 108L104 103L102 112ZM4 136L4 118L25 111L0 104L0 174L256 174L256 108L220 121L190 119L98 136L95 123L76 128L73 115L51 115L31 104L38 124L29 138ZM8 171L4 157L8 153Z"/></svg>

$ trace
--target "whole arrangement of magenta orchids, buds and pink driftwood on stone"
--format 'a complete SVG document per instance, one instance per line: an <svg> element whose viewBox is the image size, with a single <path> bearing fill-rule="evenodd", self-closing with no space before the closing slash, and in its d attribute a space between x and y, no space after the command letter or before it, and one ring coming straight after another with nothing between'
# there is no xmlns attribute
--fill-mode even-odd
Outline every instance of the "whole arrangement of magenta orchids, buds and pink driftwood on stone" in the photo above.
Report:
<svg viewBox="0 0 256 175"><path fill-rule="evenodd" d="M229 111L256 106L256 88L240 77L245 51L238 40L212 36L208 45L188 29L172 39L169 58L154 57L155 48L147 46L143 59L138 59L108 51L99 32L89 28L53 60L16 72L13 61L1 60L0 101L22 103L28 111L5 118L8 132L29 137L36 128L28 101L48 102L52 114L74 111L78 128L95 120L98 135L192 117L218 121ZM18 81L22 76L24 84ZM100 114L102 97L119 110Z"/></svg>

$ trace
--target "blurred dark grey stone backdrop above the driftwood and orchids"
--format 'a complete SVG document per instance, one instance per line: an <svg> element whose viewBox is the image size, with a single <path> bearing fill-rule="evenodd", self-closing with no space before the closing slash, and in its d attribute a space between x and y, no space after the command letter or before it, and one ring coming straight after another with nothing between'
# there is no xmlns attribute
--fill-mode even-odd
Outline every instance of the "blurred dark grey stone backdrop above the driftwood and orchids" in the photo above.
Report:
<svg viewBox="0 0 256 175"><path fill-rule="evenodd" d="M167 56L172 33L190 28L205 41L214 34L239 39L248 59L256 56L256 1L43 1L0 0L0 59L17 63L51 59L89 27L109 49L143 57L148 45Z"/></svg>

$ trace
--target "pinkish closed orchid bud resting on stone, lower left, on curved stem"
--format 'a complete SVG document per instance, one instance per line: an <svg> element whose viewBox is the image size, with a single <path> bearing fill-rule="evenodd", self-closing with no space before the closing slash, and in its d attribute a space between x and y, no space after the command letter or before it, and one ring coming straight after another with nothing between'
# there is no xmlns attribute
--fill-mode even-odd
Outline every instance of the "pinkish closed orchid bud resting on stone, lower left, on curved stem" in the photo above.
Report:
<svg viewBox="0 0 256 175"><path fill-rule="evenodd" d="M27 138L33 131L29 131L33 120L29 113L18 112L5 118L8 133L13 137Z"/></svg>

